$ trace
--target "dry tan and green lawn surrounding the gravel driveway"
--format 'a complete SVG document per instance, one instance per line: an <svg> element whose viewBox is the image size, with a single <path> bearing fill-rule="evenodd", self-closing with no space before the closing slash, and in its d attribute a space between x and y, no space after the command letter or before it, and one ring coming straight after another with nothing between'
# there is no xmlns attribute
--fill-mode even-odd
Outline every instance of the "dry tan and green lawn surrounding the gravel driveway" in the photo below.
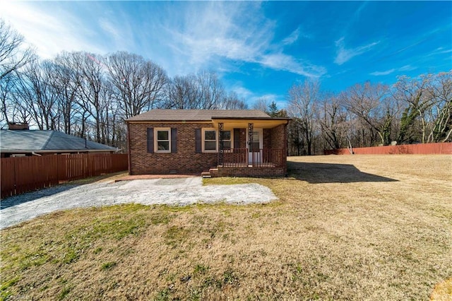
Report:
<svg viewBox="0 0 452 301"><path fill-rule="evenodd" d="M450 155L289 160L286 179L206 181L264 184L280 197L267 205L78 209L3 230L1 297L451 297L432 294L452 276Z"/></svg>

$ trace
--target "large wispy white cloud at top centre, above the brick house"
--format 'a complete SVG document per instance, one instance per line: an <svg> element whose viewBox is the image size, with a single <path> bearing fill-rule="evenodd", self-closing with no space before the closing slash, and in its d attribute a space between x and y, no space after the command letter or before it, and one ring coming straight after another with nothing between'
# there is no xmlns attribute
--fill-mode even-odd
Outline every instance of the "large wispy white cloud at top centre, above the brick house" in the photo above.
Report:
<svg viewBox="0 0 452 301"><path fill-rule="evenodd" d="M188 61L191 68L203 68L212 61L227 64L228 61L260 64L265 68L288 71L302 76L319 77L326 73L322 66L314 66L285 54L273 45L275 23L263 15L261 7L249 2L213 2L196 8L195 17L179 18L184 22L168 21L165 28L174 51ZM246 20L242 16L250 16ZM300 30L295 30L284 43L295 42ZM185 64L185 66L187 66Z"/></svg>

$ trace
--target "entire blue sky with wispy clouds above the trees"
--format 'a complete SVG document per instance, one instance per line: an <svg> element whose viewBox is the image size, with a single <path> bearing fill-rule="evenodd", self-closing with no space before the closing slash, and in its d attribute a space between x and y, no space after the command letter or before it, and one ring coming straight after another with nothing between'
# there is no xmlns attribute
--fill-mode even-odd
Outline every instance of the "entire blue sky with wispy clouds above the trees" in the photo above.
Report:
<svg viewBox="0 0 452 301"><path fill-rule="evenodd" d="M452 69L452 1L2 1L42 58L125 50L169 76L206 69L252 105L310 78L339 92Z"/></svg>

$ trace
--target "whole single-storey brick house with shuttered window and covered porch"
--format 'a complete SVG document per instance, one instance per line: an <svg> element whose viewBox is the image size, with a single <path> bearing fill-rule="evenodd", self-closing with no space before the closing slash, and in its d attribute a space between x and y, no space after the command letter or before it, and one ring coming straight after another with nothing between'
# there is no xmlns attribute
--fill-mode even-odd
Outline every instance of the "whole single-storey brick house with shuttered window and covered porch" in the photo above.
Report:
<svg viewBox="0 0 452 301"><path fill-rule="evenodd" d="M285 175L289 120L258 110L139 114L126 120L129 174Z"/></svg>

